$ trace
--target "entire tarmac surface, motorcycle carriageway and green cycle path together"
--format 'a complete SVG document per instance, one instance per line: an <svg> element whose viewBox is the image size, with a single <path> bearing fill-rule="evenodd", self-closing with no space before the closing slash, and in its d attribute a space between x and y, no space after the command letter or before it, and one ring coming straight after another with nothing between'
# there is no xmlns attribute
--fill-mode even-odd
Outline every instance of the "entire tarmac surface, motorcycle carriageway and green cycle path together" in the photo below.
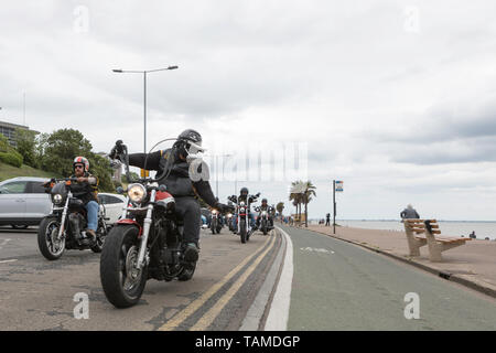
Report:
<svg viewBox="0 0 496 353"><path fill-rule="evenodd" d="M282 231L245 245L202 231L191 281L150 280L136 307L119 310L103 292L98 254L48 261L35 229L0 228L0 330L236 331L259 319L265 330L496 330L494 298L322 234ZM75 318L80 295L88 319Z"/></svg>

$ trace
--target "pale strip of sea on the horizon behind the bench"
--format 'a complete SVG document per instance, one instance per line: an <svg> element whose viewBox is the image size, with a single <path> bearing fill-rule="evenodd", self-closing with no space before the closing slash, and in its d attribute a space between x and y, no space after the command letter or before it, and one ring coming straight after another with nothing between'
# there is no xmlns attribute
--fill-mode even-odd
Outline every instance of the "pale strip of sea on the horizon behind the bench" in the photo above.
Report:
<svg viewBox="0 0 496 353"><path fill-rule="evenodd" d="M314 223L314 222L312 222ZM332 220L331 220L332 223ZM475 232L477 239L486 237L496 240L496 222L477 222L477 221L440 221L438 220L441 235L446 236L464 236ZM357 220L336 220L336 224L355 228L366 229L386 229L402 231L403 224L400 221L357 221Z"/></svg>

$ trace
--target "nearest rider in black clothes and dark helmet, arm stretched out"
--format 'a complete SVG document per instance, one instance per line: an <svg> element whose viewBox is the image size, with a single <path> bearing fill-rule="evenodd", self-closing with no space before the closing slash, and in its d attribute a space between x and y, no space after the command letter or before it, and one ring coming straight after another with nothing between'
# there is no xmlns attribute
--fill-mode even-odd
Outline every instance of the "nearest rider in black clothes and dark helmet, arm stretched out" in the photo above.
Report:
<svg viewBox="0 0 496 353"><path fill-rule="evenodd" d="M118 147L110 152L116 158ZM184 221L184 258L194 263L198 259L201 211L198 197L219 212L229 207L215 200L207 180L190 179L190 163L203 152L202 136L192 129L184 130L172 148L152 153L129 154L129 164L145 170L157 170L159 184L164 184L175 199L175 212ZM147 163L147 164L144 164Z"/></svg>

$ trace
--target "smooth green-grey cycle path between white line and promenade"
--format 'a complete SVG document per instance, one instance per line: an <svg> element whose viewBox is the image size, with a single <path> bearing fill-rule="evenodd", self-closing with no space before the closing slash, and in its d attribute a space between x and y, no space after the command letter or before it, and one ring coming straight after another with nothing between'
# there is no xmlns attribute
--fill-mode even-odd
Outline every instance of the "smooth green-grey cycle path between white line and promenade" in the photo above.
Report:
<svg viewBox="0 0 496 353"><path fill-rule="evenodd" d="M293 247L288 330L496 330L492 297L326 235L281 228Z"/></svg>

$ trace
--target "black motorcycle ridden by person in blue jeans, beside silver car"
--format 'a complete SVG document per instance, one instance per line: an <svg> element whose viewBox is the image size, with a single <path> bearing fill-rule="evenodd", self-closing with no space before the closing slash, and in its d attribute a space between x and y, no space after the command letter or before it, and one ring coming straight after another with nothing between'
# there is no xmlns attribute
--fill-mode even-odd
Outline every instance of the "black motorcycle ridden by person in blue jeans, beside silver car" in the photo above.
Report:
<svg viewBox="0 0 496 353"><path fill-rule="evenodd" d="M86 235L87 213L82 200L74 197L71 184L75 178L52 179L45 183L45 192L51 194L52 211L39 226L37 245L41 254L48 260L61 258L66 249L91 249L101 253L108 226L105 221L105 207L98 212L96 239Z"/></svg>

